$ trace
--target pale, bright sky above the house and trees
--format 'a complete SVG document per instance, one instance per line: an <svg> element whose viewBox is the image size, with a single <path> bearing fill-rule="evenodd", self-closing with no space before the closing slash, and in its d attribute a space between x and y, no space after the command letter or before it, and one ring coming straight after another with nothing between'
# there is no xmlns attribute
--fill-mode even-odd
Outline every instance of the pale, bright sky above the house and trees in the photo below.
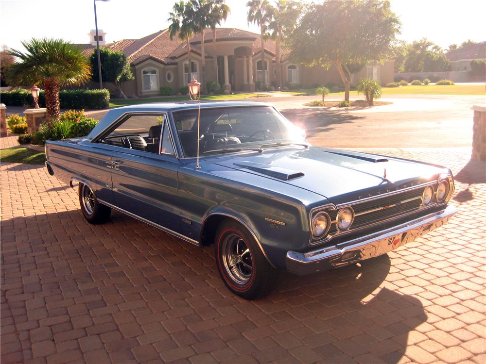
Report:
<svg viewBox="0 0 486 364"><path fill-rule="evenodd" d="M137 39L167 28L174 0L97 1L98 29L108 42ZM246 21L246 0L226 0L231 15L222 25L259 33ZM391 0L402 22L399 39L427 37L447 49L452 43L486 40L484 0ZM0 0L0 45L22 49L32 37L88 43L95 28L93 0Z"/></svg>

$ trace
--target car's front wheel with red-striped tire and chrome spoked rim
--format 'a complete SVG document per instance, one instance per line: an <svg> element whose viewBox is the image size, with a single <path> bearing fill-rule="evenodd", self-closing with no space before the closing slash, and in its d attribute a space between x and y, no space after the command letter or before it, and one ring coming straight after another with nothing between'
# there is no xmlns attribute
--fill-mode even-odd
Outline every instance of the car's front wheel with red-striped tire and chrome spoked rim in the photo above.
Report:
<svg viewBox="0 0 486 364"><path fill-rule="evenodd" d="M233 220L218 227L214 242L216 263L230 291L245 299L262 298L277 283L272 267L247 229Z"/></svg>

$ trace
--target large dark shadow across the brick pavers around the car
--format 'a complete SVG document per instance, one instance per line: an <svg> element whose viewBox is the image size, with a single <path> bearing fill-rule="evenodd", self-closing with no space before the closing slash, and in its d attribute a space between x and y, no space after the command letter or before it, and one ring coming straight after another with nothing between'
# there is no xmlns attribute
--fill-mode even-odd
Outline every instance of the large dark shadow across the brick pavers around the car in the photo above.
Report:
<svg viewBox="0 0 486 364"><path fill-rule="evenodd" d="M282 273L267 298L246 301L226 289L212 248L125 215L103 225L78 210L14 217L1 233L2 331L26 350L33 336L21 331L41 327L49 350L74 333L80 342L101 335L100 362L211 352L242 363L398 363L409 332L427 319L417 298L386 288L387 255L310 277ZM48 362L67 355L51 354Z"/></svg>

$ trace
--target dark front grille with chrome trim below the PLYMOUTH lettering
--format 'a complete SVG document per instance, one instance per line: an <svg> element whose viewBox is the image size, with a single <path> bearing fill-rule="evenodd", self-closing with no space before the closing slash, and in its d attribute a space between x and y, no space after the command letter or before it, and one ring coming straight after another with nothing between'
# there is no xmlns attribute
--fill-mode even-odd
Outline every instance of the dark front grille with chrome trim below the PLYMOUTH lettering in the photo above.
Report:
<svg viewBox="0 0 486 364"><path fill-rule="evenodd" d="M434 186L435 187L435 186ZM401 193L389 196L377 197L369 201L358 201L350 204L354 210L355 218L349 232L357 229L363 229L367 226L380 223L390 218L398 218L401 215L410 214L420 210L422 206L421 196L425 186L417 187ZM435 189L435 188L434 188ZM388 207L390 206L390 207ZM387 207L386 209L381 209ZM336 215L338 210L326 210L330 216L331 227L328 232L329 236L340 234L336 229ZM345 232L348 233L348 232ZM323 241L312 242L312 245L319 244Z"/></svg>

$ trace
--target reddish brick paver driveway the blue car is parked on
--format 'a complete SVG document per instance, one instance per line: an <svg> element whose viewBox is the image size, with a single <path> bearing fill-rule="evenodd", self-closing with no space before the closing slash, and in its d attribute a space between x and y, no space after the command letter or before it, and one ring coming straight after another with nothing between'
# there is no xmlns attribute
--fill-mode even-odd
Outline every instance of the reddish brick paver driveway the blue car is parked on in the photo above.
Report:
<svg viewBox="0 0 486 364"><path fill-rule="evenodd" d="M392 154L392 153L389 153ZM92 226L42 166L1 165L1 363L484 364L484 165L450 165L459 213L425 238L233 296L211 249L120 214Z"/></svg>

